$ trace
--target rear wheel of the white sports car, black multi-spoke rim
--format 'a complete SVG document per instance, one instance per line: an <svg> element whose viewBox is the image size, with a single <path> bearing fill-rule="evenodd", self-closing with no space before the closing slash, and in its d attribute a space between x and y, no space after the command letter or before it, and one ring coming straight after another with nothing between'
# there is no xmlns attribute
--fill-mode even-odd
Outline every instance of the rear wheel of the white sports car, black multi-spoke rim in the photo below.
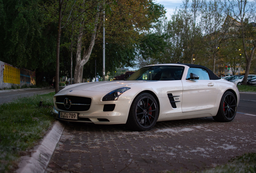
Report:
<svg viewBox="0 0 256 173"><path fill-rule="evenodd" d="M213 119L219 122L230 122L235 118L236 109L237 102L235 95L230 91L227 91L223 94L219 105L219 111Z"/></svg>

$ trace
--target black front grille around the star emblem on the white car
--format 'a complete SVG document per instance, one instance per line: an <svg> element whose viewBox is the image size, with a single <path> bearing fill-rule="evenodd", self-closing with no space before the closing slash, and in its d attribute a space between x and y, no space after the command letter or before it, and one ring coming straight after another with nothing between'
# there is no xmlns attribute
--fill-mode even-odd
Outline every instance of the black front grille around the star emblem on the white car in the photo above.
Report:
<svg viewBox="0 0 256 173"><path fill-rule="evenodd" d="M68 98L72 104L69 109L66 109L64 106L64 100ZM58 109L63 111L88 111L91 106L91 98L88 97L78 97L78 96L57 96L56 97L56 105ZM81 105L74 105L81 104Z"/></svg>

